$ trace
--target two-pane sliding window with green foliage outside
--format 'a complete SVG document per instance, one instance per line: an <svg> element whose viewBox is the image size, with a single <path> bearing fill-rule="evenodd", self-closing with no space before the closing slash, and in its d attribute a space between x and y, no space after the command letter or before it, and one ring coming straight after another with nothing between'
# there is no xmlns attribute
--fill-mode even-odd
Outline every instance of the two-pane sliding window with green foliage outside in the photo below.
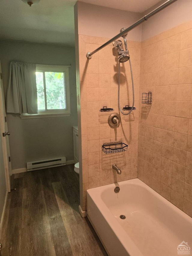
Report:
<svg viewBox="0 0 192 256"><path fill-rule="evenodd" d="M36 65L38 115L70 114L69 68Z"/></svg>

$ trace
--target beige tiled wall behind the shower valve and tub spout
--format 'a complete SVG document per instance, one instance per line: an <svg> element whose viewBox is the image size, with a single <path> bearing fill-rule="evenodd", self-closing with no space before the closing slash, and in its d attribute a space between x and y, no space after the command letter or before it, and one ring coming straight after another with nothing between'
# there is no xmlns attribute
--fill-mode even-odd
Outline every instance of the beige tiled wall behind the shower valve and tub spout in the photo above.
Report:
<svg viewBox="0 0 192 256"><path fill-rule="evenodd" d="M83 210L86 210L86 190L114 182L137 177L138 159L138 120L140 86L140 42L128 41L134 75L135 107L129 116L122 116L119 128L110 128L108 117L118 110L118 62L117 51L111 45L95 53L92 59L86 58L109 38L79 35L79 73L81 101L81 140L82 140L82 190ZM115 50L115 51L114 51ZM129 62L121 64L120 105L132 106L132 84ZM107 106L113 112L100 112ZM125 112L126 113L126 112ZM103 143L122 140L128 144L128 151L105 154ZM122 170L118 175L112 165Z"/></svg>

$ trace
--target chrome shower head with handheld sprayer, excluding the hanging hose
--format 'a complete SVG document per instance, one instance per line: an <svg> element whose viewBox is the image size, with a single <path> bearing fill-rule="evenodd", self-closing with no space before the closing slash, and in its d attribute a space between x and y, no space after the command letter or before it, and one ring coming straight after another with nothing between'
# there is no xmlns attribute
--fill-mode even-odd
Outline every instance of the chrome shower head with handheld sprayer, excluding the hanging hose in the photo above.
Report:
<svg viewBox="0 0 192 256"><path fill-rule="evenodd" d="M120 30L120 32L123 32L126 28L122 28ZM128 33L125 33L124 35L122 35L123 41L124 41L124 45L125 45L125 51L123 50L122 47L122 41L121 40L117 40L117 41L113 41L113 46L116 48L116 50L118 51L118 60L119 63L120 62L126 62L129 60L130 55L129 55L129 51L128 51L128 47L127 47L127 40L126 40L126 36L128 35Z"/></svg>

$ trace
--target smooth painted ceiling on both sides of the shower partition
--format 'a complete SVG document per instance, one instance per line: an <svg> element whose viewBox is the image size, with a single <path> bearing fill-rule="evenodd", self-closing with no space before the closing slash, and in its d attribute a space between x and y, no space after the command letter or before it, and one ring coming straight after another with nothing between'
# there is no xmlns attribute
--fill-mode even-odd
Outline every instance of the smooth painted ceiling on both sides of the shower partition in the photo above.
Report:
<svg viewBox="0 0 192 256"><path fill-rule="evenodd" d="M81 1L143 13L160 0ZM75 3L76 0L41 0L29 7L21 0L0 0L0 39L74 46Z"/></svg>

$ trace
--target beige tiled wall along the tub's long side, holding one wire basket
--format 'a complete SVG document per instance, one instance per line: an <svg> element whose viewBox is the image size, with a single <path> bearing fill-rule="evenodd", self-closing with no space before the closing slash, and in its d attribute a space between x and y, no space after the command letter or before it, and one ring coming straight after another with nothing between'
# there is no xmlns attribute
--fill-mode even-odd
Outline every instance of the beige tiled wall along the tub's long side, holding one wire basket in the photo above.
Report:
<svg viewBox="0 0 192 256"><path fill-rule="evenodd" d="M192 22L141 43L139 110L138 178L192 217Z"/></svg>

